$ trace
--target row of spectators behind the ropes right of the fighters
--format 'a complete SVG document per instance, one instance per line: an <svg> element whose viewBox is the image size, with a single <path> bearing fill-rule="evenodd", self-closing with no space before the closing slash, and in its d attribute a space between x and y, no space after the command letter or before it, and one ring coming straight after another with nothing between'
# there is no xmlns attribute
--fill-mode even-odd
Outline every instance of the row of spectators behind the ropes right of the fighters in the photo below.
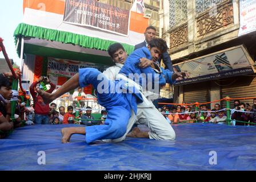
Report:
<svg viewBox="0 0 256 182"><path fill-rule="evenodd" d="M232 125L256 126L256 98L253 99L253 106L234 100L234 109L230 109L230 118ZM162 106L159 111L170 124L177 123L193 123L193 122L209 122L226 124L226 109L222 109L220 104L215 104L213 109L209 109L207 105L173 105Z"/></svg>

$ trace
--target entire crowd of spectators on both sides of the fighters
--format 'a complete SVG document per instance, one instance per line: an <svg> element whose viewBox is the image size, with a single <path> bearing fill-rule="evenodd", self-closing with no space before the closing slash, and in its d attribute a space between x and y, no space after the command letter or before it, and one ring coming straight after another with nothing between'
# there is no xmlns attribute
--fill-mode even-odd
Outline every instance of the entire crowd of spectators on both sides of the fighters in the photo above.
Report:
<svg viewBox="0 0 256 182"><path fill-rule="evenodd" d="M57 107L57 104L45 104L42 97L37 94L36 89L43 89L46 92L53 92L55 85L47 77L40 77L38 81L30 86L30 93L33 97L33 105L30 105L28 98L15 95L17 92L11 88L11 73L0 74L0 138L9 135L16 127L24 125L60 125L60 124L79 124L79 125L104 125L107 118L107 111L101 111L101 117L95 118L91 111L93 108L87 106L86 109L79 107L78 111L73 106ZM17 92L18 93L18 92ZM86 95L78 88L74 95L74 102L79 105L85 103L81 101ZM17 98L15 98L17 97ZM11 114L11 100L15 101L15 113ZM239 100L233 102L230 118L232 125L248 126L256 123L256 98L253 99L253 106L248 103L241 103ZM215 104L213 109L207 105L173 105L162 106L159 111L170 124L209 122L225 124L227 123L226 109L221 105ZM255 125L253 125L255 126Z"/></svg>

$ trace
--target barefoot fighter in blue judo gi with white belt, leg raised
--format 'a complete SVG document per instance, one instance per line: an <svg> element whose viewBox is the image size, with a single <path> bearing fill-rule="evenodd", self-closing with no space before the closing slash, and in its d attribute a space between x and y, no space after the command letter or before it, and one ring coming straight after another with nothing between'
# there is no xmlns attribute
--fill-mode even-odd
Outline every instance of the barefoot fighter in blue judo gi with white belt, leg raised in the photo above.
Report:
<svg viewBox="0 0 256 182"><path fill-rule="evenodd" d="M155 45L157 47L149 47L147 51L145 48L134 51L127 58L127 64L129 64L128 60L130 59L139 59L142 57L151 59L151 56L153 59L157 59L159 55L161 55L161 52L166 51L167 46L166 42L162 39L154 39L154 42L155 43L151 45ZM140 61L133 63L139 64ZM145 61L142 64L147 65L149 63ZM65 82L65 84L63 84L61 88L59 88L57 92L53 94L48 94L40 89L37 89L43 100L46 103L50 103L69 90L73 90L78 86L84 87L92 84L97 90L99 104L105 107L109 112L105 125L88 126L86 128L69 127L62 129L63 143L69 142L70 137L73 134L86 135L86 142L91 143L94 140L117 139L126 133L126 127L131 116L131 111L134 111L134 113L137 114L137 104L142 103L144 100L143 94L141 94L142 88L141 85L139 85L142 82L141 78L138 78L139 84L134 83L132 80L126 79L126 73L129 73L129 71L135 71L135 73L145 73L146 75L150 73L150 77L146 77L145 79L150 80L153 78L153 80L151 79L151 81L153 81L153 85L155 85L155 81L157 81L156 85L159 84L161 86L166 83L166 80L175 80L175 77L181 76L179 75L180 73L173 74L171 72L167 72L166 75L163 75L164 72L159 70L159 73L157 73L150 67L142 68L141 71L138 71L137 66L134 66L134 64L131 65L133 68L129 68L129 65L125 67L125 65L120 74L121 76L119 80L108 80L106 76L104 76L97 69L84 68L79 69L79 73L70 78L69 81ZM154 64L150 63L150 66L155 69ZM128 71L125 71L126 69ZM158 77L158 79L154 79L156 77Z"/></svg>

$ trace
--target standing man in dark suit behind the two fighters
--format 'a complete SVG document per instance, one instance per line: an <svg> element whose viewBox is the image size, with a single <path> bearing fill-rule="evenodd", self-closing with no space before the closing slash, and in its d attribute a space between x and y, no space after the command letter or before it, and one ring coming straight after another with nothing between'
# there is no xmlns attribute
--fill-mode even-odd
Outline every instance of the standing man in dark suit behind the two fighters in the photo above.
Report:
<svg viewBox="0 0 256 182"><path fill-rule="evenodd" d="M153 26L147 27L146 31L144 33L145 41L135 45L134 50L138 49L138 48L141 48L141 47L147 47L150 40L155 38L155 33L156 32L157 32L157 30L155 29L155 27L153 27ZM157 60L159 64L160 64L162 59L163 59L163 63L165 64L165 69L169 69L171 72L173 72L173 64L171 63L171 58L170 58L169 53L167 51L162 53L161 57L159 57L159 59Z"/></svg>

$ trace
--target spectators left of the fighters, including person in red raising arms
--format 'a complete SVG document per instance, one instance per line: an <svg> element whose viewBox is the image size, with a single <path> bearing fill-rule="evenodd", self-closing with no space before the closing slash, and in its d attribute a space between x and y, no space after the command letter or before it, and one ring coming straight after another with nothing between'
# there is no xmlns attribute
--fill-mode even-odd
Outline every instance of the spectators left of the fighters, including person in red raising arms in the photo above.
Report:
<svg viewBox="0 0 256 182"><path fill-rule="evenodd" d="M18 73L17 73L18 74ZM9 135L15 128L25 125L60 125L60 124L79 124L79 125L103 125L107 117L107 111L102 110L99 118L93 117L92 108L80 109L78 114L73 106L57 107L57 104L45 104L36 89L43 89L46 92L53 92L55 85L47 77L40 77L38 81L30 86L30 93L33 97L33 104L30 99L19 96L16 90L12 90L11 73L0 73L0 138ZM78 88L77 98L84 97ZM11 114L11 101L15 106L15 112ZM81 104L81 103L79 103ZM84 104L84 103L82 103ZM77 117L75 117L77 115Z"/></svg>

